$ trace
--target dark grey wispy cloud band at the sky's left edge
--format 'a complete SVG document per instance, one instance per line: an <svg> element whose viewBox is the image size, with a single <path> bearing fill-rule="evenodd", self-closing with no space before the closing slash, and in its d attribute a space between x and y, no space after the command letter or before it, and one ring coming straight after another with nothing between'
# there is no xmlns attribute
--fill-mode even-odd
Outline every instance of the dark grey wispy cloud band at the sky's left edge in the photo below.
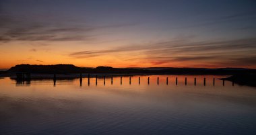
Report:
<svg viewBox="0 0 256 135"><path fill-rule="evenodd" d="M54 24L28 21L0 13L0 42L11 41L88 41L95 40L96 30L134 26L134 23L106 26L77 26L74 24Z"/></svg>

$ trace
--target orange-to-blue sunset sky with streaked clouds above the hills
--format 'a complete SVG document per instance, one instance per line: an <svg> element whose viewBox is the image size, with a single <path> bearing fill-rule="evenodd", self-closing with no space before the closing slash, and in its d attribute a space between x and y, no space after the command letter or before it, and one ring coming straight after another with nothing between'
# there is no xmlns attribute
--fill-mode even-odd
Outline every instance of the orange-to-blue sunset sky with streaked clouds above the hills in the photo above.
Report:
<svg viewBox="0 0 256 135"><path fill-rule="evenodd" d="M256 1L1 0L15 64L256 69Z"/></svg>

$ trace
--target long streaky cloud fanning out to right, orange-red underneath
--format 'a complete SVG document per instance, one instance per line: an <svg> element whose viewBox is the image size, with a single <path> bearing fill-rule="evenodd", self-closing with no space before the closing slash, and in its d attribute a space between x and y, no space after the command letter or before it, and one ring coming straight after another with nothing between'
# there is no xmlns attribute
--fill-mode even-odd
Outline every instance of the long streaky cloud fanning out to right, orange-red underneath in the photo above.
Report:
<svg viewBox="0 0 256 135"><path fill-rule="evenodd" d="M69 56L73 58L91 58L95 56L105 56L129 54L125 60L141 60L152 65L167 64L172 62L230 62L230 64L255 64L256 60L256 38L243 38L239 40L222 41L198 41L189 42L187 40L171 40L166 42L156 42L152 44L130 45L113 48L109 50L86 50L72 52ZM142 56L135 56L136 52Z"/></svg>

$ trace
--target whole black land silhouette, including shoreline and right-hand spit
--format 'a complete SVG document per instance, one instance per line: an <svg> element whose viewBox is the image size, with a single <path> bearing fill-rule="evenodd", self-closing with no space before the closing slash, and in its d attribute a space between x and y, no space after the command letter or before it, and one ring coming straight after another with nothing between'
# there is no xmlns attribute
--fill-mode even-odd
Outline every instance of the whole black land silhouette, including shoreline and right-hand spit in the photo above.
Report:
<svg viewBox="0 0 256 135"><path fill-rule="evenodd" d="M55 65L30 65L18 64L7 71L0 71L0 77L15 77L16 73L30 73L32 79L51 79L53 74L58 75L58 79L74 79L83 74L92 75L229 75L222 78L232 81L238 85L248 85L256 87L256 69L244 68L173 68L173 67L148 67L148 68L113 68L110 66L98 66L96 68L78 67L73 64Z"/></svg>

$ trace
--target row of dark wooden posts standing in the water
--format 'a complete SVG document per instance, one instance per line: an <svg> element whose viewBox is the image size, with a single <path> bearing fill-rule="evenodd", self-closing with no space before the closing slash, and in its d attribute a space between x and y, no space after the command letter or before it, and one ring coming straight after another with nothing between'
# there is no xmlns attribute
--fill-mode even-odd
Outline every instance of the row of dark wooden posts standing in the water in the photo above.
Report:
<svg viewBox="0 0 256 135"><path fill-rule="evenodd" d="M55 82L56 82L56 76ZM106 84L106 76L103 76L104 79L104 85ZM80 74L80 85L82 85L82 74ZM120 83L122 85L123 83L123 77L120 77ZM98 76L96 75L96 85L98 84ZM113 84L113 76L111 76L111 84ZM131 77L129 77L129 84L131 85ZM139 77L139 84L140 84L140 77ZM148 84L150 84L150 77L148 77ZM157 84L159 85L159 77L157 78ZM178 85L178 77L175 79L175 84ZM88 85L90 85L90 75L88 75ZM168 77L166 77L166 85L168 85ZM185 85L187 85L187 77L185 77ZM194 85L197 85L197 78L194 78ZM206 79L203 78L203 85L206 85ZM213 85L215 85L215 78L213 79ZM222 80L222 85L225 85L225 80ZM234 86L234 82L232 82L232 85Z"/></svg>

